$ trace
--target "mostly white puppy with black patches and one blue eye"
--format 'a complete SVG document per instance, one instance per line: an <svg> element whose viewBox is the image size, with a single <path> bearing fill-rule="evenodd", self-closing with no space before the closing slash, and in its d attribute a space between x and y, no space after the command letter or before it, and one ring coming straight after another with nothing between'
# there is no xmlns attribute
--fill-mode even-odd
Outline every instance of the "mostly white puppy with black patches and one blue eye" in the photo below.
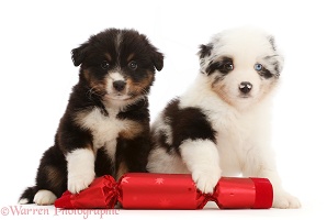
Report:
<svg viewBox="0 0 327 220"><path fill-rule="evenodd" d="M200 74L151 128L148 170L191 173L212 193L221 176L267 177L273 207L297 208L284 191L270 146L270 111L283 58L263 31L226 30L201 45Z"/></svg>

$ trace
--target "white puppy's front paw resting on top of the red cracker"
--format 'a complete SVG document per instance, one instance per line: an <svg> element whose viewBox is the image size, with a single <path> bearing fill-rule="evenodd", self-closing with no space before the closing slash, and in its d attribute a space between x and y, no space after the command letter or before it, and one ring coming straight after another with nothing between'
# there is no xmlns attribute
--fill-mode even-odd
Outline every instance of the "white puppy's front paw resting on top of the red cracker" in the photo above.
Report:
<svg viewBox="0 0 327 220"><path fill-rule="evenodd" d="M217 185L222 174L219 170L214 172L193 172L192 178L196 188L204 194L212 194Z"/></svg>

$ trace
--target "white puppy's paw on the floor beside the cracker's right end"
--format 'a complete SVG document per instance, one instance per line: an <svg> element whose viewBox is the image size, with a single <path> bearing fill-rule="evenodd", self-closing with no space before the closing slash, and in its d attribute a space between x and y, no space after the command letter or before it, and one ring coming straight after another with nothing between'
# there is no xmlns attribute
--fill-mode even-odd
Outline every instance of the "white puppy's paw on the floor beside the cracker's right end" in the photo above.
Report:
<svg viewBox="0 0 327 220"><path fill-rule="evenodd" d="M280 209L297 209L301 208L301 202L296 197L286 191L275 191L273 194L272 207Z"/></svg>

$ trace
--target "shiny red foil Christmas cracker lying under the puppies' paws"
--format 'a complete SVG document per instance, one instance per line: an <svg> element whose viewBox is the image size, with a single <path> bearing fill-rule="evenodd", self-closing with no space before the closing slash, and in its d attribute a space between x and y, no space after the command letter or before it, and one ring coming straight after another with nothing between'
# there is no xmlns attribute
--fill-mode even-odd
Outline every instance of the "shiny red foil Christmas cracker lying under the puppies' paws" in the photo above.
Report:
<svg viewBox="0 0 327 220"><path fill-rule="evenodd" d="M55 201L66 209L202 209L215 201L221 209L268 209L272 206L272 186L266 178L222 177L213 194L203 194L189 174L125 174L119 183L102 176L89 188L69 191Z"/></svg>

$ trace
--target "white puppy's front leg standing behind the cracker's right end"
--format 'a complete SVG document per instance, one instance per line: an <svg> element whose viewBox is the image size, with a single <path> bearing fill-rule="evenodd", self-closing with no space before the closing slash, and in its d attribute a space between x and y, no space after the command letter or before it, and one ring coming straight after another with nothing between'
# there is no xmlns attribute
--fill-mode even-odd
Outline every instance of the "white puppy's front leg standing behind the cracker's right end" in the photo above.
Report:
<svg viewBox="0 0 327 220"><path fill-rule="evenodd" d="M263 177L271 182L273 186L272 207L300 208L298 199L283 189L272 155L273 152L269 147L249 151L244 166L244 175Z"/></svg>

